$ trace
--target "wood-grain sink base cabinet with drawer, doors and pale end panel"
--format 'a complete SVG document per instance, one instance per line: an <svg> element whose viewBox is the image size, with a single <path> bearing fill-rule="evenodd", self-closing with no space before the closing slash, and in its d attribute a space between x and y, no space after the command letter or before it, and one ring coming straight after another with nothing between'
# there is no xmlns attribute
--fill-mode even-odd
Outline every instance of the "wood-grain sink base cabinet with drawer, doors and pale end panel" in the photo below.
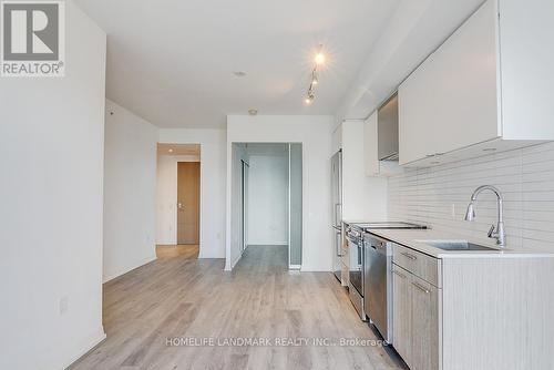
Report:
<svg viewBox="0 0 554 370"><path fill-rule="evenodd" d="M411 370L554 369L552 281L553 254L435 258L393 244L392 346Z"/></svg>

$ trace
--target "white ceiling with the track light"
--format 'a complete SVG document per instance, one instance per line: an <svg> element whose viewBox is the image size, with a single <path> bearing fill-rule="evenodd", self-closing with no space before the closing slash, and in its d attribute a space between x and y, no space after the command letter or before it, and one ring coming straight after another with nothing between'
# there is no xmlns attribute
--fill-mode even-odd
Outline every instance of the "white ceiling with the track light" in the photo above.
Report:
<svg viewBox="0 0 554 370"><path fill-rule="evenodd" d="M225 127L249 109L336 113L400 0L76 2L109 34L107 97L162 127ZM320 43L329 63L306 106Z"/></svg>

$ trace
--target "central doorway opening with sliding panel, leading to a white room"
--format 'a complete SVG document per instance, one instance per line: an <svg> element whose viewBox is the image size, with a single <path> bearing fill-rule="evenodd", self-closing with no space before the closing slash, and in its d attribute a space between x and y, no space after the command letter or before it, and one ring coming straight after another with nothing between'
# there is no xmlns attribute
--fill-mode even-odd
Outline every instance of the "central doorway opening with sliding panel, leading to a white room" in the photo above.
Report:
<svg viewBox="0 0 554 370"><path fill-rule="evenodd" d="M300 269L302 144L234 143L232 155L232 266L270 255Z"/></svg>

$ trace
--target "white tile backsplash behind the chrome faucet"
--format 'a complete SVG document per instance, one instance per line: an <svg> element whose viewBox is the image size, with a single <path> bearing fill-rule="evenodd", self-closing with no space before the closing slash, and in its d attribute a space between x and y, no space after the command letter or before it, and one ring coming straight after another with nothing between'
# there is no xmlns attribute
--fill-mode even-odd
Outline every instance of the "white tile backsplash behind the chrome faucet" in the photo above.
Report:
<svg viewBox="0 0 554 370"><path fill-rule="evenodd" d="M485 184L504 196L509 247L554 250L554 143L407 168L389 178L389 218L482 239L496 222L495 196L479 196L475 222L463 217L471 194Z"/></svg>

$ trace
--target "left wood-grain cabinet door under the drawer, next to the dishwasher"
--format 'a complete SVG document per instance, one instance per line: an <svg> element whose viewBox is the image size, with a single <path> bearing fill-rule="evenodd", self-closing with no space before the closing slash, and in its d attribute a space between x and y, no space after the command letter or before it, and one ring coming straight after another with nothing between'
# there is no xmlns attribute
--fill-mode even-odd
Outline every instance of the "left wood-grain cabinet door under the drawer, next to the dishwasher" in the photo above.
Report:
<svg viewBox="0 0 554 370"><path fill-rule="evenodd" d="M410 274L392 265L392 346L411 367Z"/></svg>

